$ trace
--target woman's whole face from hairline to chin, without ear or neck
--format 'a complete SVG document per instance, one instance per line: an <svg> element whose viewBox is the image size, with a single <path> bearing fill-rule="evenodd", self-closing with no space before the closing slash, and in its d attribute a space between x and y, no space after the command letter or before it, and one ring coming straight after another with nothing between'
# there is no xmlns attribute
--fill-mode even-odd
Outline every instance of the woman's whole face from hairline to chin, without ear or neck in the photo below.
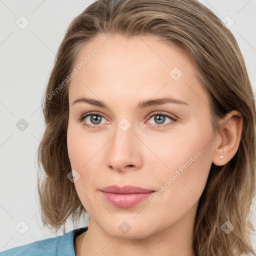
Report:
<svg viewBox="0 0 256 256"><path fill-rule="evenodd" d="M190 58L157 37L100 35L81 48L73 68L67 148L90 221L126 238L192 222L214 134ZM110 185L155 192L101 191Z"/></svg>

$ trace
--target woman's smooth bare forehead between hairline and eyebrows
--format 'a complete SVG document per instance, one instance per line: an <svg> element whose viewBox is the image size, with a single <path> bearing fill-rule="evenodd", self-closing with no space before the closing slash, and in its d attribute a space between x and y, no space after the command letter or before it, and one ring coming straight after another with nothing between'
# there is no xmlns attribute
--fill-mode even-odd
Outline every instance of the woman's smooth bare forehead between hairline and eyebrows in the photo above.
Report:
<svg viewBox="0 0 256 256"><path fill-rule="evenodd" d="M69 88L72 99L85 94L124 101L172 95L190 104L207 101L190 57L156 36L100 34L80 48L74 68L77 74Z"/></svg>

